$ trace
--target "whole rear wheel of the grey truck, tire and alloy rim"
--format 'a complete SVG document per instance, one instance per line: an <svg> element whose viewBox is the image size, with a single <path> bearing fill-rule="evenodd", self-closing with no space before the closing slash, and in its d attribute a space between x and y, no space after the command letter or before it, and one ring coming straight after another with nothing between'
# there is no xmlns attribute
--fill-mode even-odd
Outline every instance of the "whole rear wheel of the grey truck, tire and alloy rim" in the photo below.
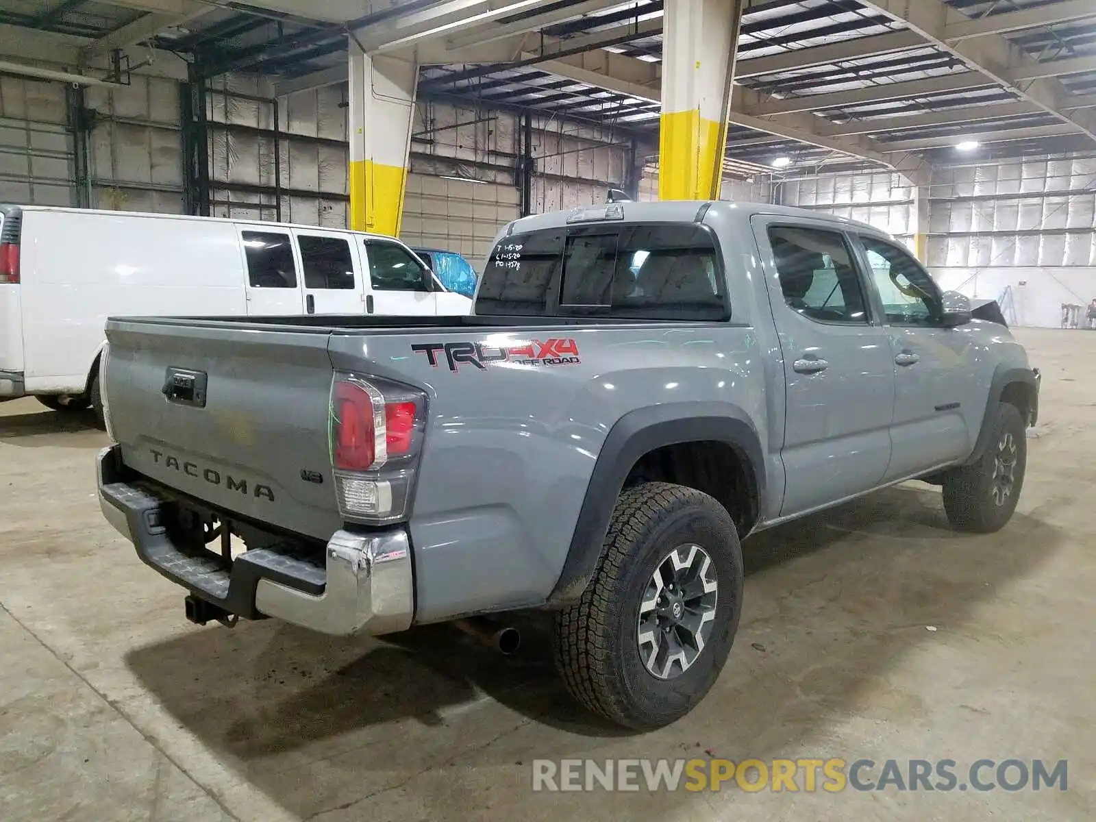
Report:
<svg viewBox="0 0 1096 822"><path fill-rule="evenodd" d="M627 728L685 716L727 661L742 581L738 533L716 500L666 482L624 491L593 579L557 617L568 690Z"/></svg>

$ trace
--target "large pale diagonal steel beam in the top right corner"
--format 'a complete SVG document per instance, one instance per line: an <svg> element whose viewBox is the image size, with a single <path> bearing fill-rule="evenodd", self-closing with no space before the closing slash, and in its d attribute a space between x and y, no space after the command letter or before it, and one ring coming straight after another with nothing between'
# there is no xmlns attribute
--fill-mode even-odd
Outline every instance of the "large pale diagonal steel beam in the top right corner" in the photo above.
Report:
<svg viewBox="0 0 1096 822"><path fill-rule="evenodd" d="M1044 112L1053 114L1070 125L1073 132L1081 132L1096 140L1096 115L1085 111L1068 112L1062 109L1060 101L1070 95L1069 89L1057 77L1043 73L1048 64L1040 67L1037 60L1002 34L986 34L961 39L957 43L949 42L947 39L948 24L955 23L957 12L944 0L916 0L915 2L913 0L863 0L863 2L870 8L878 9L892 20L905 23L939 48L944 48L963 60L971 69L981 72L1009 91L1016 92ZM1044 20L1053 15L1053 8L1054 4L1039 7L1039 11L1047 15ZM1073 59L1089 61L1092 58ZM1058 62L1066 64L1063 68L1084 70L1077 68L1080 64L1073 62L1073 60ZM1032 71L1035 71L1034 75L1030 73ZM1031 79L1032 77L1034 79Z"/></svg>

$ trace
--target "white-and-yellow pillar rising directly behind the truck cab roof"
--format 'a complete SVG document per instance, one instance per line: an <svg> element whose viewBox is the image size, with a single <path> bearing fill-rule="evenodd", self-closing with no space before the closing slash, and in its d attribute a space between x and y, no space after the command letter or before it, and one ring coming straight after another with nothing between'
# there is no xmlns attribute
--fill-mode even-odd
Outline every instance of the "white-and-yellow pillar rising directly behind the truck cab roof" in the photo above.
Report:
<svg viewBox="0 0 1096 822"><path fill-rule="evenodd" d="M745 0L666 0L659 199L718 199Z"/></svg>

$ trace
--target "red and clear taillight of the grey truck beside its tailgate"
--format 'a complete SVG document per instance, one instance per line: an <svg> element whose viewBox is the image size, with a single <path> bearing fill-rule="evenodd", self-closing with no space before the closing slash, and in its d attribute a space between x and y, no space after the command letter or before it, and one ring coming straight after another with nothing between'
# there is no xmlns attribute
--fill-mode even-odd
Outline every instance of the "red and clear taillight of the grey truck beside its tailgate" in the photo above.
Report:
<svg viewBox="0 0 1096 822"><path fill-rule="evenodd" d="M426 396L373 377L335 374L331 467L343 517L384 524L406 516L426 421Z"/></svg>

